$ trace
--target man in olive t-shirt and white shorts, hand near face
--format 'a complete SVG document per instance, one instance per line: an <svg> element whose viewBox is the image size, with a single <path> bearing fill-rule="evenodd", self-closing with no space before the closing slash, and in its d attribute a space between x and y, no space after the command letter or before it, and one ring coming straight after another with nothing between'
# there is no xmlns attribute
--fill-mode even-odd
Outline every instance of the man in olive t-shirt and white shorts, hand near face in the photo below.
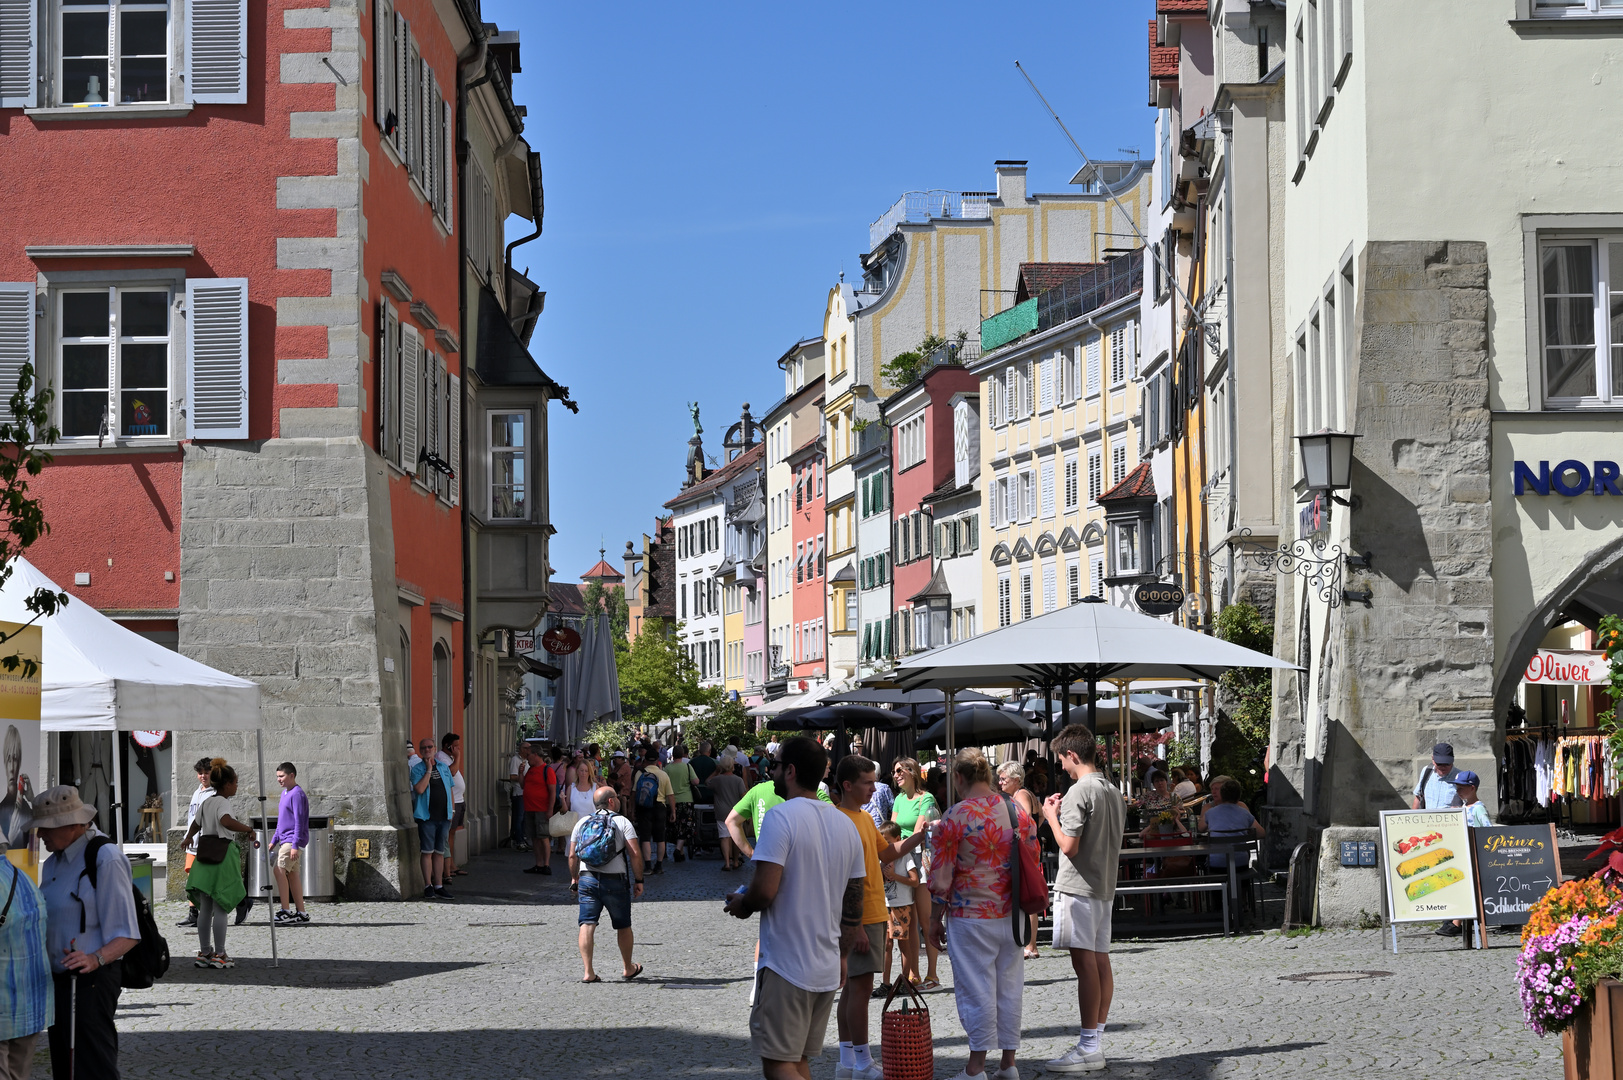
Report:
<svg viewBox="0 0 1623 1080"><path fill-rule="evenodd" d="M1104 1030L1115 979L1110 973L1110 906L1115 903L1117 861L1126 802L1097 765L1094 732L1066 726L1052 744L1060 767L1074 781L1063 796L1052 794L1042 815L1060 846L1053 879L1053 947L1071 950L1081 1038L1047 1062L1048 1072L1096 1072L1105 1067Z"/></svg>

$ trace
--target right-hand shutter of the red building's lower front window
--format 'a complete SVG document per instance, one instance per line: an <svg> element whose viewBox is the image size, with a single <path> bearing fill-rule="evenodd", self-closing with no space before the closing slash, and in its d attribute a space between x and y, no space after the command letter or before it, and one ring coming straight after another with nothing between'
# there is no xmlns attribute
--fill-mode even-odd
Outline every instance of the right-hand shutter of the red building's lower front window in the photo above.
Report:
<svg viewBox="0 0 1623 1080"><path fill-rule="evenodd" d="M187 426L192 438L248 437L248 279L187 279Z"/></svg>

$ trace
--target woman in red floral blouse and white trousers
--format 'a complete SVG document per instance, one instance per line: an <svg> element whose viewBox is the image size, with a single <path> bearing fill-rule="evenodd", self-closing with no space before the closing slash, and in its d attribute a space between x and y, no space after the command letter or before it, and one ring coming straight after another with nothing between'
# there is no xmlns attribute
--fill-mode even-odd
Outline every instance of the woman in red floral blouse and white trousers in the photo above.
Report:
<svg viewBox="0 0 1623 1080"><path fill-rule="evenodd" d="M1014 882L1010 859L1019 843L1037 854L1037 825L1019 804L992 789L992 768L980 750L961 750L953 763L964 801L935 827L930 862L930 937L953 957L953 996L969 1035L969 1065L959 1077L980 1077L987 1054L1001 1051L998 1074L1014 1069L1019 1049L1026 971L1014 940ZM945 918L943 918L945 916Z"/></svg>

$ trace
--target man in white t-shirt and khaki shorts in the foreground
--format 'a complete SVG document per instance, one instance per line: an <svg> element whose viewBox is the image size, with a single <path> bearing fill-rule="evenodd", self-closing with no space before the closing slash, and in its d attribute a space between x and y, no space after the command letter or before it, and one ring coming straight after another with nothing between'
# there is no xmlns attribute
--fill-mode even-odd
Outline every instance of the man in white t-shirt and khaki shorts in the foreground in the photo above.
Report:
<svg viewBox="0 0 1623 1080"><path fill-rule="evenodd" d="M773 762L784 802L761 819L755 877L727 914L761 913L761 960L750 1043L766 1080L805 1080L823 1052L841 986L841 953L859 939L867 861L850 819L816 797L828 755L815 739L786 739Z"/></svg>

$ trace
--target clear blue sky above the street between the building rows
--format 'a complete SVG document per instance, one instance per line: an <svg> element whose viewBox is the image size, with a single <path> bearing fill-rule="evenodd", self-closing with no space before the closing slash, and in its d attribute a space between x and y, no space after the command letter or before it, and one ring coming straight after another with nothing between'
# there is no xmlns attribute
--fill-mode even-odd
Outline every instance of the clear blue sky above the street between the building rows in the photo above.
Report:
<svg viewBox="0 0 1623 1080"><path fill-rule="evenodd" d="M682 484L687 401L719 455L742 403L782 395L774 361L902 192L990 190L1000 158L1066 188L1081 162L1016 60L1089 154L1154 154L1151 0L482 6L521 32L545 171L545 232L514 253L547 291L531 351L581 406L550 413L560 581L641 546Z"/></svg>

